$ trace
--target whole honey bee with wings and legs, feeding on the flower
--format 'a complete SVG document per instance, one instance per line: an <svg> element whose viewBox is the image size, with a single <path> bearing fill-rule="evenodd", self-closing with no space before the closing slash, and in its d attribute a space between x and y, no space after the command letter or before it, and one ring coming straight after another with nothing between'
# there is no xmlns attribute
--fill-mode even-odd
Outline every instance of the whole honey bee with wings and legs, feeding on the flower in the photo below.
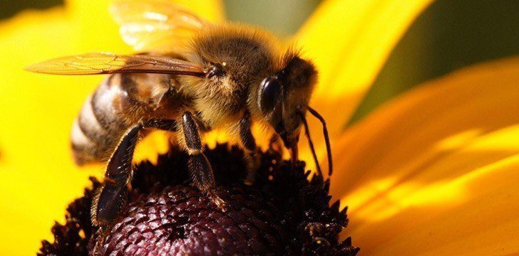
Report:
<svg viewBox="0 0 519 256"><path fill-rule="evenodd" d="M329 170L332 161L324 119L308 106L317 82L314 64L266 31L237 23L211 23L169 1L118 1L111 14L126 43L143 53L88 53L47 60L27 70L59 75L111 74L88 97L73 123L77 164L108 161L105 182L93 201L93 223L108 225L128 196L135 144L143 129L174 132L190 155L192 181L222 210L200 133L227 129L240 137L254 181L258 150L253 123L272 127L297 160L305 115L323 124ZM321 172L319 165L317 171Z"/></svg>

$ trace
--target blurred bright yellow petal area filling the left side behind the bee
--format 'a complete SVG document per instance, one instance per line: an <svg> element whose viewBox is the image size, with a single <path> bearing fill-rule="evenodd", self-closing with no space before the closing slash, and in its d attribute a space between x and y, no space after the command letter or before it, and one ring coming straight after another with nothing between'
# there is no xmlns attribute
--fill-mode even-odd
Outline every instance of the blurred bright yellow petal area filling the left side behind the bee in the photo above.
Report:
<svg viewBox="0 0 519 256"><path fill-rule="evenodd" d="M40 240L52 239L53 220L63 220L88 176L103 174L103 166L78 169L69 151L73 119L103 78L39 75L23 68L61 55L129 51L107 5L68 1L66 8L25 11L0 23L0 255L33 255ZM216 14L219 1L195 5L207 18L222 17ZM140 148L156 144L165 140L150 137ZM146 151L141 151L142 158Z"/></svg>

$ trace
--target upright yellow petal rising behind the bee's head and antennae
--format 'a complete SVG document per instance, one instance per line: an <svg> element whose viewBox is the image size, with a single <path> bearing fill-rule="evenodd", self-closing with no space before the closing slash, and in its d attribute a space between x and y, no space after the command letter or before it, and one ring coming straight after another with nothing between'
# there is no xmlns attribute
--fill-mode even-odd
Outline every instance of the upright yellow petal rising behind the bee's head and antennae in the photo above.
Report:
<svg viewBox="0 0 519 256"><path fill-rule="evenodd" d="M431 2L324 1L299 31L297 45L319 70L319 85L310 105L327 120L332 148L391 50ZM321 124L312 117L308 121L319 159L324 159ZM301 157L314 169L307 147Z"/></svg>

